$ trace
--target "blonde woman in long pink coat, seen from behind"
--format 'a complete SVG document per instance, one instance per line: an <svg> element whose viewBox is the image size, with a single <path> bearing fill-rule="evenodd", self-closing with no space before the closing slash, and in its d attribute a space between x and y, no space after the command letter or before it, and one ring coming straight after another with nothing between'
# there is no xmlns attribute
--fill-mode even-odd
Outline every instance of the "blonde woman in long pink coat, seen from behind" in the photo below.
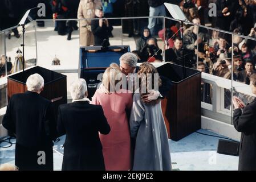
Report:
<svg viewBox="0 0 256 182"><path fill-rule="evenodd" d="M108 135L99 134L105 169L125 171L131 169L131 139L127 113L130 114L132 94L123 89L111 92L120 79L115 82L110 80L119 73L121 74L118 65L105 70L102 84L92 97L92 104L103 107L104 115L111 127Z"/></svg>

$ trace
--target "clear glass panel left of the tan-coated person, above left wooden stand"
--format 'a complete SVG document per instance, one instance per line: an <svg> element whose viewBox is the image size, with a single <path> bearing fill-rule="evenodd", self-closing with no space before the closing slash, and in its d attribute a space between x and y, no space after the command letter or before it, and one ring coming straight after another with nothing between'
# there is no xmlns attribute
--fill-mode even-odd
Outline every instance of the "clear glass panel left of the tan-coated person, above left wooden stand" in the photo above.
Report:
<svg viewBox="0 0 256 182"><path fill-rule="evenodd" d="M56 27L55 27L56 26ZM71 26L71 39L68 28ZM78 68L79 31L75 30L75 20L44 20L44 27L36 27L38 65L64 65L70 69Z"/></svg>

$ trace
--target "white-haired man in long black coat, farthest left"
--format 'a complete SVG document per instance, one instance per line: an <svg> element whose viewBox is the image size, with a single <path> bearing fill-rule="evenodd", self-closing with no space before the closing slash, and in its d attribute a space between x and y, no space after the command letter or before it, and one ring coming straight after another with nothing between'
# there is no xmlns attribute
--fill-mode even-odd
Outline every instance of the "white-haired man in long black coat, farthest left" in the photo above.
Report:
<svg viewBox="0 0 256 182"><path fill-rule="evenodd" d="M44 80L39 74L27 78L27 92L14 94L3 116L3 127L16 139L15 165L19 170L53 170L52 140L56 122L51 102L39 95Z"/></svg>

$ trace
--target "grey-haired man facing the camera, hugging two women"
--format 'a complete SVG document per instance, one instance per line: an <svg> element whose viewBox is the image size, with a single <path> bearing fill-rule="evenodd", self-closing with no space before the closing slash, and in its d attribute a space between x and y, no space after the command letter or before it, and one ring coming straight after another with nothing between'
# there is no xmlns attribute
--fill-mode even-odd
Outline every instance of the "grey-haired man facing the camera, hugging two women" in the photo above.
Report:
<svg viewBox="0 0 256 182"><path fill-rule="evenodd" d="M126 75L137 73L139 71L139 67L137 67L137 56L134 53L127 52L124 53L119 61L120 61L120 69ZM159 87L159 90L151 90L147 95L142 96L144 102L150 102L152 100L156 100L158 98L164 98L166 94L169 92L170 87L172 86L172 82L166 77L160 76L162 85Z"/></svg>

